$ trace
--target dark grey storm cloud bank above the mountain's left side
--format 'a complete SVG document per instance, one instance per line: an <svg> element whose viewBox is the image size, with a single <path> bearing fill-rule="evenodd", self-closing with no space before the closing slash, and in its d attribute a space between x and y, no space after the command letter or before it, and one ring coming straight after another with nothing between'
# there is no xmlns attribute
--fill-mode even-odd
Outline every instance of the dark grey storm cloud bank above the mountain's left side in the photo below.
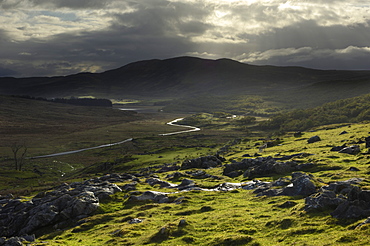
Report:
<svg viewBox="0 0 370 246"><path fill-rule="evenodd" d="M115 14L105 30L58 34L46 41L8 42L10 49L8 52L0 51L0 54L6 57L13 53L13 58L18 60L39 61L34 62L34 67L25 66L22 74L46 72L47 75L56 75L68 70L78 72L80 67L76 67L77 63L95 64L101 67L100 70L105 70L136 60L167 58L192 51L188 37L201 34L208 28L208 25L197 21L206 12L193 5L173 3L169 7L168 4L157 1L154 6L136 5L135 12ZM11 50L22 52L14 56Z"/></svg>

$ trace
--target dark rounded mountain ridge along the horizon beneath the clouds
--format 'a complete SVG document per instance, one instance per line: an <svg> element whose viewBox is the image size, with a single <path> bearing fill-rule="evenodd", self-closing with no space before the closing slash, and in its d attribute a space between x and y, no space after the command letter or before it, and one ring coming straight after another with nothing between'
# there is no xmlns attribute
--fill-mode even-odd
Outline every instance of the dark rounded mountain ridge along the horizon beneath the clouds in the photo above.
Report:
<svg viewBox="0 0 370 246"><path fill-rule="evenodd" d="M370 81L370 71L314 70L302 67L254 66L230 59L177 57L130 63L103 73L58 77L0 78L0 94L37 97L92 95L187 97L202 94L241 95L289 91L318 83ZM315 86L320 87L320 86ZM343 86L342 86L343 87ZM361 91L361 90L360 90Z"/></svg>

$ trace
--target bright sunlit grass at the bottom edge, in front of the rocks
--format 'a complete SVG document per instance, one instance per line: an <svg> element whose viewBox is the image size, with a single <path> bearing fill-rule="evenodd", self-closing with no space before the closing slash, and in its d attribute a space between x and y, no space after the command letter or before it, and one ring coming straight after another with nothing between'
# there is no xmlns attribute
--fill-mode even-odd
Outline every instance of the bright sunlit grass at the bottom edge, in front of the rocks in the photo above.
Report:
<svg viewBox="0 0 370 246"><path fill-rule="evenodd" d="M141 189L145 185L142 184ZM146 187L150 188L150 187ZM150 188L153 189L153 188ZM102 205L81 226L57 236L47 234L40 241L48 245L366 245L368 228L353 231L356 222L340 225L326 213L306 214L303 199L256 198L251 191L188 192L182 204L130 204L122 195ZM286 200L292 208L277 205ZM207 208L207 209L205 209ZM140 218L140 224L129 224ZM179 226L181 220L186 225ZM165 228L165 229L162 229ZM351 244L350 244L351 245Z"/></svg>

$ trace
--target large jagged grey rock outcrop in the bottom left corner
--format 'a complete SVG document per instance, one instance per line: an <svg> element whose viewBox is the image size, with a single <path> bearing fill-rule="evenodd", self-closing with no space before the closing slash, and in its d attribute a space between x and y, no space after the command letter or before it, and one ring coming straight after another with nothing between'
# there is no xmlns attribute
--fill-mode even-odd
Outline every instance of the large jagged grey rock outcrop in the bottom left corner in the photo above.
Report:
<svg viewBox="0 0 370 246"><path fill-rule="evenodd" d="M99 200L122 191L117 185L103 181L108 178L112 177L63 184L29 201L1 199L0 236L33 234L43 227L62 228L91 215L99 207Z"/></svg>

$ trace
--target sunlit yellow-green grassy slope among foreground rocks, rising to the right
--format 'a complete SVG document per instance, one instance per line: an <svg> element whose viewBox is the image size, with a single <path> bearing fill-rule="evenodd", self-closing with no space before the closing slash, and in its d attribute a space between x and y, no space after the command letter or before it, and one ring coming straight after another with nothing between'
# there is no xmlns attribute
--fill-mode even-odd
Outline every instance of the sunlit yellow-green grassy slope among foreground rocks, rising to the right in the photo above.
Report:
<svg viewBox="0 0 370 246"><path fill-rule="evenodd" d="M361 144L358 155L330 152L332 146L344 142L350 144L368 135L369 124L330 126L306 132L301 138L283 136L282 145L267 148L262 155L290 155L306 152L313 154L296 161L312 162L310 171L321 184L345 180L352 177L365 178L363 188L370 185L368 180L369 154ZM348 134L340 135L346 130ZM307 144L307 138L319 135L321 142ZM234 145L225 157L241 159L243 154L258 152L255 144L261 142L249 138ZM357 167L358 172L349 171ZM209 188L219 183L246 181L242 177L231 179L222 176L222 168L207 170L221 180L196 179L201 187ZM164 179L168 173L158 174ZM260 177L272 181L281 176ZM175 181L179 183L180 180ZM123 184L121 184L123 185ZM141 179L139 191L158 190ZM330 211L306 213L302 197L255 197L252 191L232 192L193 191L172 194L180 198L181 204L130 203L125 193L116 194L102 205L99 213L81 226L65 231L47 234L41 238L47 245L368 245L370 226L354 230L361 220L341 221L331 218ZM280 208L286 201L295 202L291 208ZM128 224L130 218L140 218L140 224ZM179 226L180 220L187 221ZM160 235L166 227L168 234Z"/></svg>

